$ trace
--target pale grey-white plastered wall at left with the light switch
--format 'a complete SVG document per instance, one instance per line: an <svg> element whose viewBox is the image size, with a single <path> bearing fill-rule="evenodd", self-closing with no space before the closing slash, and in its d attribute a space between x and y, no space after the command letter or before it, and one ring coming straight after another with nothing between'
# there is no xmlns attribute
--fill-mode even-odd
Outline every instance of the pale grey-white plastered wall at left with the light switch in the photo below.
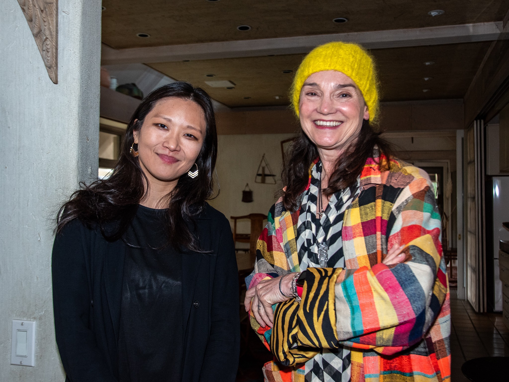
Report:
<svg viewBox="0 0 509 382"><path fill-rule="evenodd" d="M101 2L60 0L59 83L16 0L0 12L0 381L64 381L51 291L55 208L97 177ZM36 366L10 365L11 321L37 320Z"/></svg>

